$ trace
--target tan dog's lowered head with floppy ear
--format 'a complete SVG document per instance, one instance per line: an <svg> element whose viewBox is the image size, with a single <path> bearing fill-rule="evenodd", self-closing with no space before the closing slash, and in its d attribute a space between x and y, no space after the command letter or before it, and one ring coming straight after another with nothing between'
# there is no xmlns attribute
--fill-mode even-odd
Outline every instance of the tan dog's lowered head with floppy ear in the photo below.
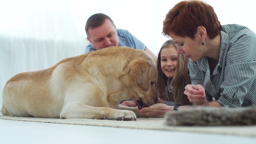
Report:
<svg viewBox="0 0 256 144"><path fill-rule="evenodd" d="M155 88L157 68L153 58L144 51L142 57L134 58L128 64L128 73L120 76L120 80L129 90L130 96L138 108L158 103Z"/></svg>

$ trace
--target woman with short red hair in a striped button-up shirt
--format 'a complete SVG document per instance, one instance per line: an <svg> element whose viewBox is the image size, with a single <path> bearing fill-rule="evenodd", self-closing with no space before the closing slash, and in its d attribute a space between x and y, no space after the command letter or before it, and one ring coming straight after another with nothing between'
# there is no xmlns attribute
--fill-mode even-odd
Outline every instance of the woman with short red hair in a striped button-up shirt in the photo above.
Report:
<svg viewBox="0 0 256 144"><path fill-rule="evenodd" d="M190 58L192 84L184 94L198 106L256 105L256 34L238 24L221 25L212 6L192 0L176 4L163 22L165 36ZM180 108L186 106L180 106Z"/></svg>

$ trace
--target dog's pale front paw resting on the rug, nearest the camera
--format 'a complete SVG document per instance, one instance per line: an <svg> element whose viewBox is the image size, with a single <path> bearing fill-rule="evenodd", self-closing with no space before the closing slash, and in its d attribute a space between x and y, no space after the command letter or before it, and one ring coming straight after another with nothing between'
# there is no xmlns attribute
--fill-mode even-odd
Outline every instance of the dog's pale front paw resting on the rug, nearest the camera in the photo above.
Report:
<svg viewBox="0 0 256 144"><path fill-rule="evenodd" d="M136 115L130 110L117 110L115 120L136 121Z"/></svg>

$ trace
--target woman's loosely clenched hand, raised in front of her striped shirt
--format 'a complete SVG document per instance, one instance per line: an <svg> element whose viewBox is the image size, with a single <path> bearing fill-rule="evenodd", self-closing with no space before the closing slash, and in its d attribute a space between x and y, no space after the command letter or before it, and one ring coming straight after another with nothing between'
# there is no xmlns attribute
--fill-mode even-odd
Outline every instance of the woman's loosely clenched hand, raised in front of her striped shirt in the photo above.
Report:
<svg viewBox="0 0 256 144"><path fill-rule="evenodd" d="M208 101L206 100L205 89L202 85L193 85L188 84L185 86L184 94L188 96L188 99L194 105L205 104Z"/></svg>

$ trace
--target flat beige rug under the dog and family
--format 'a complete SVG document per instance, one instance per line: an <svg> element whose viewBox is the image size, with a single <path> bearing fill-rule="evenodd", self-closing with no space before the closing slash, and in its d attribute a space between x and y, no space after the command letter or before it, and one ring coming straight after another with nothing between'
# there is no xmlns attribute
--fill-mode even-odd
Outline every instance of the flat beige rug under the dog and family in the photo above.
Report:
<svg viewBox="0 0 256 144"><path fill-rule="evenodd" d="M0 114L0 119L28 122L45 122L55 124L77 124L88 126L107 126L118 128L135 128L148 130L170 130L180 132L199 132L209 134L226 134L234 136L256 137L256 126L167 126L164 118L137 118L137 121L91 120L91 119L58 119L11 117Z"/></svg>

